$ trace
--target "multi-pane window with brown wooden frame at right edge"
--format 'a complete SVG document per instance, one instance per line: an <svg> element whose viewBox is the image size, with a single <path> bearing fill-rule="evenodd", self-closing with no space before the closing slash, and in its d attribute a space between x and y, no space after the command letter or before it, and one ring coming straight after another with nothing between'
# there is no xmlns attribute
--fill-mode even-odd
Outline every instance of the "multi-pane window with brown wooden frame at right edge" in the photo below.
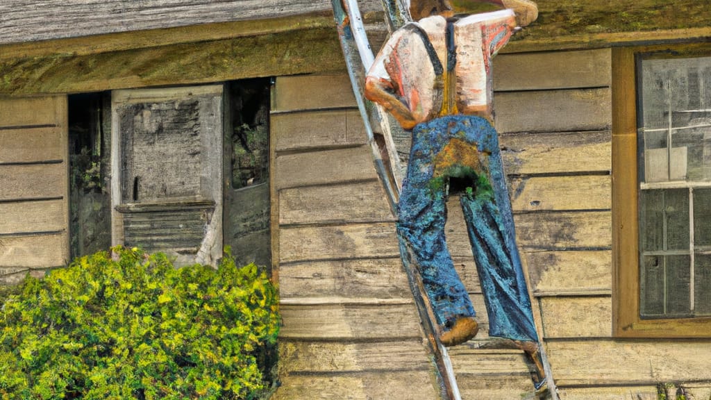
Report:
<svg viewBox="0 0 711 400"><path fill-rule="evenodd" d="M711 56L614 51L615 333L711 334Z"/></svg>

